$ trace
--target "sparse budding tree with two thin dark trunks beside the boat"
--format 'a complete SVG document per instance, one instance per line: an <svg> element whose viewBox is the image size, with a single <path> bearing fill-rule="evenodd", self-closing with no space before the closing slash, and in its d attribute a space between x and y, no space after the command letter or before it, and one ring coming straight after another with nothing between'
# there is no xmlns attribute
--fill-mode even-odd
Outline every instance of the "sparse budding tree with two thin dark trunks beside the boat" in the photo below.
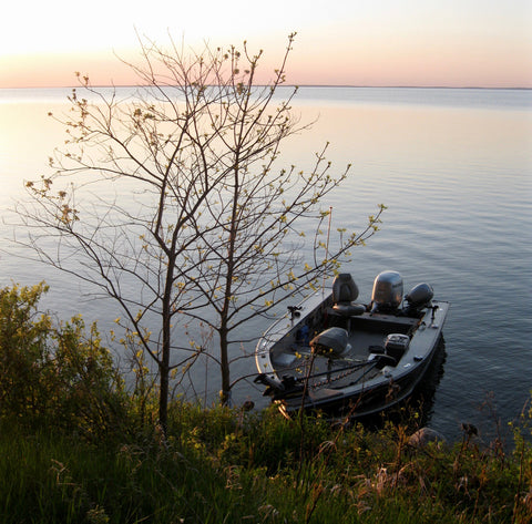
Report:
<svg viewBox="0 0 532 524"><path fill-rule="evenodd" d="M308 172L277 167L283 141L307 127L290 111L297 90L278 102L293 40L265 86L255 80L262 53L246 43L242 53L196 53L140 39L143 62L129 65L141 88L131 97L79 75L83 96L73 90L70 114L52 115L68 133L53 174L27 183L32 204L18 209L43 261L120 304L158 368L164 430L171 371L203 349L176 343L184 316L218 333L225 401L229 333L330 274L377 229L381 208L323 258L296 255L297 224L327 215L318 203L347 169L332 177L325 150ZM174 361L174 349L192 352Z"/></svg>

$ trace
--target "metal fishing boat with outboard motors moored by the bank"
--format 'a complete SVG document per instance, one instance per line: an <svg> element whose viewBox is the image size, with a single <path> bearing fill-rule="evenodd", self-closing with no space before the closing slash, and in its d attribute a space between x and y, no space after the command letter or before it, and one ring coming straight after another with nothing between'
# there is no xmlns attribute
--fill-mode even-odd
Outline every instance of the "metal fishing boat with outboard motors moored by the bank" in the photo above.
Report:
<svg viewBox="0 0 532 524"><path fill-rule="evenodd" d="M403 297L397 271L374 281L371 301L358 304L350 274L337 275L273 323L259 339L257 383L287 417L300 409L383 411L405 400L427 371L442 337L449 302L429 284Z"/></svg>

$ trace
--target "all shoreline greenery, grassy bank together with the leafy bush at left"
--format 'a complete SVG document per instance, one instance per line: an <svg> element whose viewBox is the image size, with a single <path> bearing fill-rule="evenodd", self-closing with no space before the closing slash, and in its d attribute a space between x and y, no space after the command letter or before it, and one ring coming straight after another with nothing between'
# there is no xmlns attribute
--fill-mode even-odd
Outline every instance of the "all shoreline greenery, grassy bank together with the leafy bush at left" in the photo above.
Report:
<svg viewBox="0 0 532 524"><path fill-rule="evenodd" d="M45 286L0 289L3 523L530 523L530 405L513 443L173 400L166 435L137 369L126 388L95 326L55 325ZM427 436L412 439L415 435Z"/></svg>

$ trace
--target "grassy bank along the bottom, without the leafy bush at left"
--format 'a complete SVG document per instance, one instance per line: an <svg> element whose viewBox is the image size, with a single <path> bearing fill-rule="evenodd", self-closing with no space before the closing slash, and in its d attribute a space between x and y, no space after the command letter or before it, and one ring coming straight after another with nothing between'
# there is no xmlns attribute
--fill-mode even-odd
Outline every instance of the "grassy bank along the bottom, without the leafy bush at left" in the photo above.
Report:
<svg viewBox="0 0 532 524"><path fill-rule="evenodd" d="M528 523L532 450L474 438L415 448L406 428L330 428L176 404L157 434L89 442L2 424L3 523Z"/></svg>

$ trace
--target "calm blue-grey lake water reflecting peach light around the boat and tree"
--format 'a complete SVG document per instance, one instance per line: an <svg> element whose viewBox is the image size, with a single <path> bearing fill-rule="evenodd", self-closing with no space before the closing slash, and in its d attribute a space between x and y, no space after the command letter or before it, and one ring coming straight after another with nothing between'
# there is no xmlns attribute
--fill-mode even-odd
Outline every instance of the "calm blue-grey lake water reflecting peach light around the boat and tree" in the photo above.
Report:
<svg viewBox="0 0 532 524"><path fill-rule="evenodd" d="M66 94L0 91L2 215L24 178L47 173L63 140L47 113ZM388 206L381 232L345 267L360 299L369 299L376 274L395 269L406 290L428 281L452 302L431 425L453 438L468 421L488 436L493 412L481 405L489 395L505 424L532 390L532 92L305 88L296 100L304 120L319 119L285 147L287 163L305 167L329 141L334 166L352 164L349 181L324 202L334 225L360 229L377 204ZM0 228L6 248L12 232ZM61 318L81 311L105 328L120 315L47 267L2 253L0 268L0 285L44 278L52 286L45 305ZM235 374L254 370L249 359ZM260 402L259 393L245 386L236 397Z"/></svg>

